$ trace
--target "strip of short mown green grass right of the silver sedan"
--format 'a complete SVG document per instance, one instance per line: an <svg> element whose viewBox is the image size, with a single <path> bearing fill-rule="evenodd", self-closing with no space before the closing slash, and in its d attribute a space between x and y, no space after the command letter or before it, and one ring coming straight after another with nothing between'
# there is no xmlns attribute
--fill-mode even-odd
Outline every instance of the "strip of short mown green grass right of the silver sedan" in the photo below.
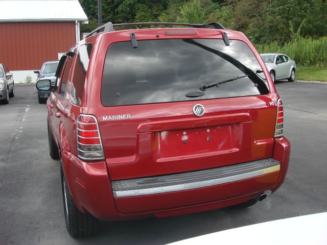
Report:
<svg viewBox="0 0 327 245"><path fill-rule="evenodd" d="M327 82L327 67L298 66L296 80Z"/></svg>

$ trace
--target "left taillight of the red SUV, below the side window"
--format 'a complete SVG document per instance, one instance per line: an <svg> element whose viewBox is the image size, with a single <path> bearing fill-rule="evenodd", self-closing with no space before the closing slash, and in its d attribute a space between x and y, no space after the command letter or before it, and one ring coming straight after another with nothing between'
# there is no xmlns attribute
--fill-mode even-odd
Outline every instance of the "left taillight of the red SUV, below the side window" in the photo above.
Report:
<svg viewBox="0 0 327 245"><path fill-rule="evenodd" d="M83 160L104 159L98 121L92 115L79 115L77 119L77 155Z"/></svg>

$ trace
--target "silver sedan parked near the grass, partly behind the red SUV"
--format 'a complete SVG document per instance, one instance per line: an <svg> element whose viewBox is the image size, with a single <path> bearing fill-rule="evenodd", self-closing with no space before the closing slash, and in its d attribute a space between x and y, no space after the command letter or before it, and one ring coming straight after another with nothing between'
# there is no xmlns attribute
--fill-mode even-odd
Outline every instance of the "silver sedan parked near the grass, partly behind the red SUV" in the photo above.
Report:
<svg viewBox="0 0 327 245"><path fill-rule="evenodd" d="M260 54L264 60L273 82L288 79L294 82L296 75L295 61L284 54Z"/></svg>

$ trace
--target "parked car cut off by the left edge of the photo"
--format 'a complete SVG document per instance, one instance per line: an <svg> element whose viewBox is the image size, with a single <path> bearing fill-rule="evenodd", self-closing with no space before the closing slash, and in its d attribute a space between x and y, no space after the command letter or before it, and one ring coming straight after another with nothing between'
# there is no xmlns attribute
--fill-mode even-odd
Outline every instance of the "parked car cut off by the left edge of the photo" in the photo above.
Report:
<svg viewBox="0 0 327 245"><path fill-rule="evenodd" d="M15 96L14 79L5 64L0 64L0 102L9 104L9 98Z"/></svg>

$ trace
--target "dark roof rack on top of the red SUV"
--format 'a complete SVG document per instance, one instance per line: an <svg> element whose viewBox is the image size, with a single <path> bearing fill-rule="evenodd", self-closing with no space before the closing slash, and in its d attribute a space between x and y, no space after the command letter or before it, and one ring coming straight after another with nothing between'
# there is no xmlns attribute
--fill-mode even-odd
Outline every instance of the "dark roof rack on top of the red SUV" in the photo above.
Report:
<svg viewBox="0 0 327 245"><path fill-rule="evenodd" d="M191 28L211 28L214 29L225 29L222 24L218 22L203 23L203 24L189 24L189 23L171 23L171 22L140 22L140 23L121 23L112 24L108 22L98 27L96 30L90 32L86 37L96 35L98 33L113 32L114 27L135 27L135 26L185 26Z"/></svg>

